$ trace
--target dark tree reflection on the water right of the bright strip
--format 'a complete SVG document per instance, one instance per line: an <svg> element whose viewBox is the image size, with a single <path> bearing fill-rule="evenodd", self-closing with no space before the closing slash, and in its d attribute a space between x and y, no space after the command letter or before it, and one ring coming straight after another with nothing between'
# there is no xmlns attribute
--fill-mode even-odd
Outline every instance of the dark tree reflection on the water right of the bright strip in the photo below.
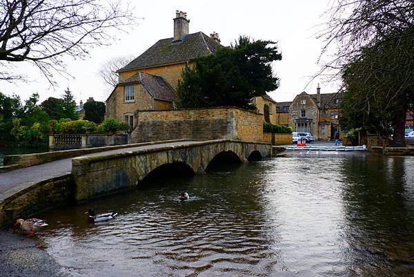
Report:
<svg viewBox="0 0 414 277"><path fill-rule="evenodd" d="M342 236L351 276L406 276L414 270L413 168L407 157L345 160Z"/></svg>

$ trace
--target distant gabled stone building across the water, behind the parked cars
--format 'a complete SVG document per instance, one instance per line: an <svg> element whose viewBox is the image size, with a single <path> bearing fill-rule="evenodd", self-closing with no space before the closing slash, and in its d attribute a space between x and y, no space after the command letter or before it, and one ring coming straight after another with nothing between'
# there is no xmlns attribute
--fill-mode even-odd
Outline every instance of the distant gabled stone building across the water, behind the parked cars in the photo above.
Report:
<svg viewBox="0 0 414 277"><path fill-rule="evenodd" d="M277 124L290 126L294 132L312 133L317 140L333 140L339 127L339 104L341 93L321 93L319 85L316 94L302 92L293 102L277 103Z"/></svg>

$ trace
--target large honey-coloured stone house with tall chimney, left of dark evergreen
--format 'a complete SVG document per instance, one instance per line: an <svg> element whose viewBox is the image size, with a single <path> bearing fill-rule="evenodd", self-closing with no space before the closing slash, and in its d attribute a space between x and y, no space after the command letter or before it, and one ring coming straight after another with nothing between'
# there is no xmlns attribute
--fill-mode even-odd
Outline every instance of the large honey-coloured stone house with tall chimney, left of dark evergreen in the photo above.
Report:
<svg viewBox="0 0 414 277"><path fill-rule="evenodd" d="M160 39L139 57L120 68L119 83L106 99L106 117L135 124L135 112L173 108L175 89L184 66L223 47L217 33L189 34L185 12L176 12L174 37Z"/></svg>

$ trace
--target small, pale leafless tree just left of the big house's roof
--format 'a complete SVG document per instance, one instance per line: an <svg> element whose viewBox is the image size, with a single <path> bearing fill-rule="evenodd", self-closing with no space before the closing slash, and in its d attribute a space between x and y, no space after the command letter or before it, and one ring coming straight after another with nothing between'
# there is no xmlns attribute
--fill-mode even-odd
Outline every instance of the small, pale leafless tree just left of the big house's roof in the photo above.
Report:
<svg viewBox="0 0 414 277"><path fill-rule="evenodd" d="M107 89L105 95L107 97L118 84L117 70L126 66L133 58L132 56L112 57L102 64L99 70L99 76L102 77L103 82L106 84Z"/></svg>

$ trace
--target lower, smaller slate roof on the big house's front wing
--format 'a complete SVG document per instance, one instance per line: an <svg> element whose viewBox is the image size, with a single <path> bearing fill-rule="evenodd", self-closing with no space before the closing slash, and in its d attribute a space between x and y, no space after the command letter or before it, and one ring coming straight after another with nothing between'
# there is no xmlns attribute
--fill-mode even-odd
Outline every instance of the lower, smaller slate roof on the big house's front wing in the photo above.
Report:
<svg viewBox="0 0 414 277"><path fill-rule="evenodd" d="M152 75L144 72L139 72L132 75L128 79L119 82L119 85L137 84L141 83L148 91L152 98L173 102L175 100L175 93L172 87L157 75ZM115 90L114 90L115 91ZM108 99L110 96L108 97Z"/></svg>

